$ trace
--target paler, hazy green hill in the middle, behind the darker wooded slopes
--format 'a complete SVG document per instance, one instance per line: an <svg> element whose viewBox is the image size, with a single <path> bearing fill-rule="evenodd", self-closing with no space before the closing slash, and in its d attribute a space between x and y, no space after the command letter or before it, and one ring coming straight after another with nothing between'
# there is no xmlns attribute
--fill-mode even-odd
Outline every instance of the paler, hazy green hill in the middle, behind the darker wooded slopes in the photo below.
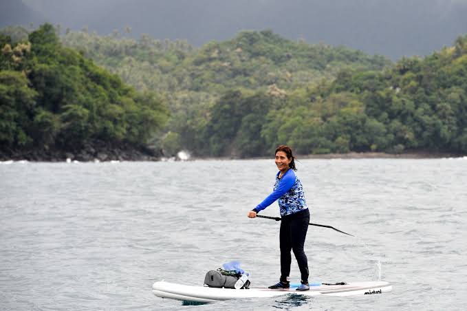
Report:
<svg viewBox="0 0 467 311"><path fill-rule="evenodd" d="M288 94L318 85L323 79L330 81L340 71L380 70L391 64L382 56L289 41L269 30L240 32L230 41L213 41L200 49L184 41L158 41L149 36L134 40L85 30L68 32L63 43L83 51L137 89L160 92L169 102L171 118L165 135L153 143L166 153L185 148L199 156L250 154L219 147L213 151L206 146L206 140L215 140L206 138L213 105L230 90ZM261 149L252 155L264 152Z"/></svg>

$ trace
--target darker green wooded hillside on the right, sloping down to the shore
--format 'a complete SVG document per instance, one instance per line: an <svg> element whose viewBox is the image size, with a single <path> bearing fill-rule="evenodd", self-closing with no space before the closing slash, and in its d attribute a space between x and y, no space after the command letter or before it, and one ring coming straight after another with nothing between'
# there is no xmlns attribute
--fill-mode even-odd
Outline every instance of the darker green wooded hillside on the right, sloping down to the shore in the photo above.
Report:
<svg viewBox="0 0 467 311"><path fill-rule="evenodd" d="M210 154L261 156L283 143L303 154L465 154L467 35L426 58L402 58L377 71L343 70L334 81L274 100L259 92L228 94L212 111L202 139ZM236 126L224 127L232 116Z"/></svg>

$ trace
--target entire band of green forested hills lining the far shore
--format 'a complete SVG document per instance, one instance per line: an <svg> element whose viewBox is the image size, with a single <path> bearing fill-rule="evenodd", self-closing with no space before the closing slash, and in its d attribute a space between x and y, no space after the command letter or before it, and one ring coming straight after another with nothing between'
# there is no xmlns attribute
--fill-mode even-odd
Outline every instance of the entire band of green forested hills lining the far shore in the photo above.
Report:
<svg viewBox="0 0 467 311"><path fill-rule="evenodd" d="M0 160L444 158L467 154L467 34L369 56L271 30L194 48L149 36L0 31Z"/></svg>

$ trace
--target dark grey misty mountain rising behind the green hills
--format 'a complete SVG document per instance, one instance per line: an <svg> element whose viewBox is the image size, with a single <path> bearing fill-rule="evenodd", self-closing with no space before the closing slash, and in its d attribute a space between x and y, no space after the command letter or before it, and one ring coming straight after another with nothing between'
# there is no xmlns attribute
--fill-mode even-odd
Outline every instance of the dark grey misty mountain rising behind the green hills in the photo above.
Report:
<svg viewBox="0 0 467 311"><path fill-rule="evenodd" d="M8 2L12 2L9 0ZM16 2L20 2L17 0ZM288 39L346 45L393 59L427 55L467 32L467 0L23 0L52 23L109 34L223 41L271 29ZM2 10L3 11L3 10Z"/></svg>

